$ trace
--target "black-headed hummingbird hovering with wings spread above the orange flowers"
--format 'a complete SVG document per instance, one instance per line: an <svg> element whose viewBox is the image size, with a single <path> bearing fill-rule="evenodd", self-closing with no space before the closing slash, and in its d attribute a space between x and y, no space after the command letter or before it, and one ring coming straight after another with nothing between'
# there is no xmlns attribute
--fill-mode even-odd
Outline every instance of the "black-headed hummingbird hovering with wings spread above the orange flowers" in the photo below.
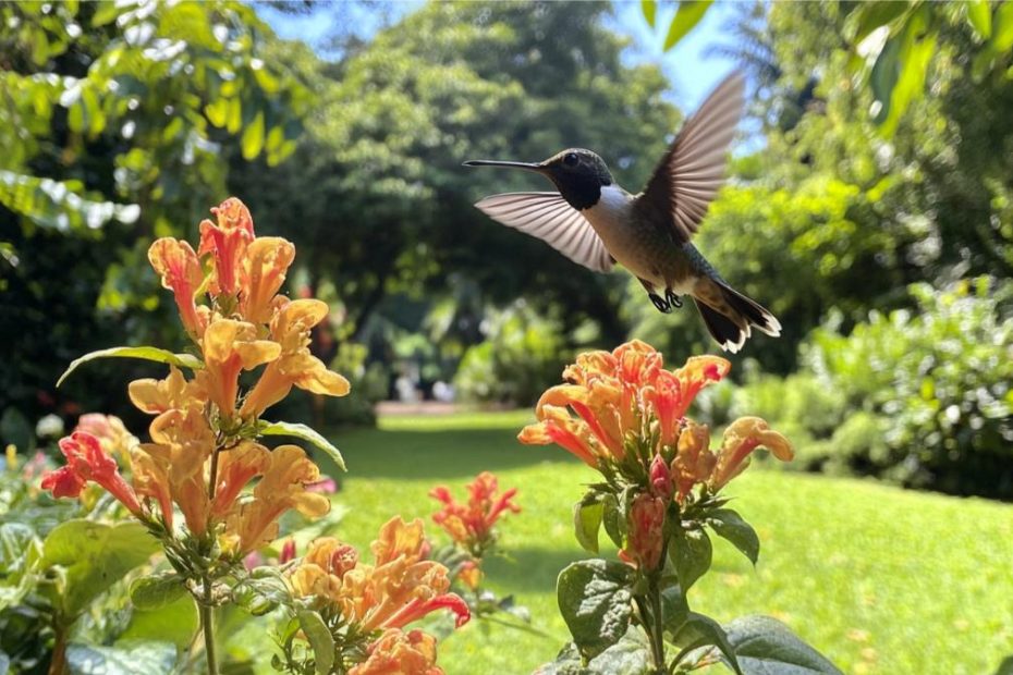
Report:
<svg viewBox="0 0 1013 675"><path fill-rule="evenodd" d="M540 173L558 191L492 195L475 206L595 272L609 272L619 262L659 311L682 307L682 297L689 295L722 349L739 352L753 328L778 336L781 324L773 315L732 289L689 241L724 183L743 89L741 74L721 82L682 125L636 195L615 182L598 155L570 148L540 162L464 162Z"/></svg>

